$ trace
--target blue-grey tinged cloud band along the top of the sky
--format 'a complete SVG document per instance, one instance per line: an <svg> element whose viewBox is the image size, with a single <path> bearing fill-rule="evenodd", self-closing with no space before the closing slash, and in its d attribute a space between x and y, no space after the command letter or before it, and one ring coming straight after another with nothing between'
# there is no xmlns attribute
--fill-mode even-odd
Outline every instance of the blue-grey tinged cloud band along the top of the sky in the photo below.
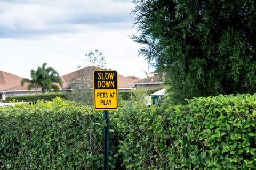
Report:
<svg viewBox="0 0 256 170"><path fill-rule="evenodd" d="M109 0L0 2L0 26L40 31L62 24L125 23L132 22L131 8L131 2Z"/></svg>

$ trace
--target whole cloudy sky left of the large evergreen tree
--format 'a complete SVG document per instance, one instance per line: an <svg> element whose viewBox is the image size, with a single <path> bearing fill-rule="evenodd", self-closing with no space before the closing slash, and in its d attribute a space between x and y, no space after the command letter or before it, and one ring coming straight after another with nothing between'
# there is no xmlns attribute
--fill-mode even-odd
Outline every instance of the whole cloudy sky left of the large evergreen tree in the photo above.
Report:
<svg viewBox="0 0 256 170"><path fill-rule="evenodd" d="M138 34L132 8L132 0L0 0L0 71L30 78L46 62L65 75L98 49L108 69L143 78L153 68L129 37Z"/></svg>

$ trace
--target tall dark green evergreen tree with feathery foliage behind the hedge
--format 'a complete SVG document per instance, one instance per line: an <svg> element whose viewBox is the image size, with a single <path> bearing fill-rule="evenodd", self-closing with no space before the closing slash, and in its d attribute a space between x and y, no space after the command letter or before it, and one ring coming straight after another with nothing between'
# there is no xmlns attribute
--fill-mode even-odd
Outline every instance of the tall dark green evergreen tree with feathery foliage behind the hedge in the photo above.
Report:
<svg viewBox="0 0 256 170"><path fill-rule="evenodd" d="M140 53L176 103L256 90L256 2L134 0Z"/></svg>

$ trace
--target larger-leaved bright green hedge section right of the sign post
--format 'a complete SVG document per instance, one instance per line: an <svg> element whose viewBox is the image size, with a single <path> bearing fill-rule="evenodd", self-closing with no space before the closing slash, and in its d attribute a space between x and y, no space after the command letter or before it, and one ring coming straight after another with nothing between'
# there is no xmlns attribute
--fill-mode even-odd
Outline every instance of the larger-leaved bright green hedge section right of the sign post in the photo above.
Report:
<svg viewBox="0 0 256 170"><path fill-rule="evenodd" d="M255 169L256 95L200 97L124 122L127 169ZM127 113L126 113L126 116Z"/></svg>

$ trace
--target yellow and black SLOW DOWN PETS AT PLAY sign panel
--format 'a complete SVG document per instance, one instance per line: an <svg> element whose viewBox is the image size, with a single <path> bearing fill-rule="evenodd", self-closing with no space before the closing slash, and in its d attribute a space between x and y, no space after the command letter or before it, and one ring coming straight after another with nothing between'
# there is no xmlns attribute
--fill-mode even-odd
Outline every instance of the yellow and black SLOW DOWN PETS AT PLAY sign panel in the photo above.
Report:
<svg viewBox="0 0 256 170"><path fill-rule="evenodd" d="M117 71L96 70L93 73L94 108L115 110L118 108Z"/></svg>

